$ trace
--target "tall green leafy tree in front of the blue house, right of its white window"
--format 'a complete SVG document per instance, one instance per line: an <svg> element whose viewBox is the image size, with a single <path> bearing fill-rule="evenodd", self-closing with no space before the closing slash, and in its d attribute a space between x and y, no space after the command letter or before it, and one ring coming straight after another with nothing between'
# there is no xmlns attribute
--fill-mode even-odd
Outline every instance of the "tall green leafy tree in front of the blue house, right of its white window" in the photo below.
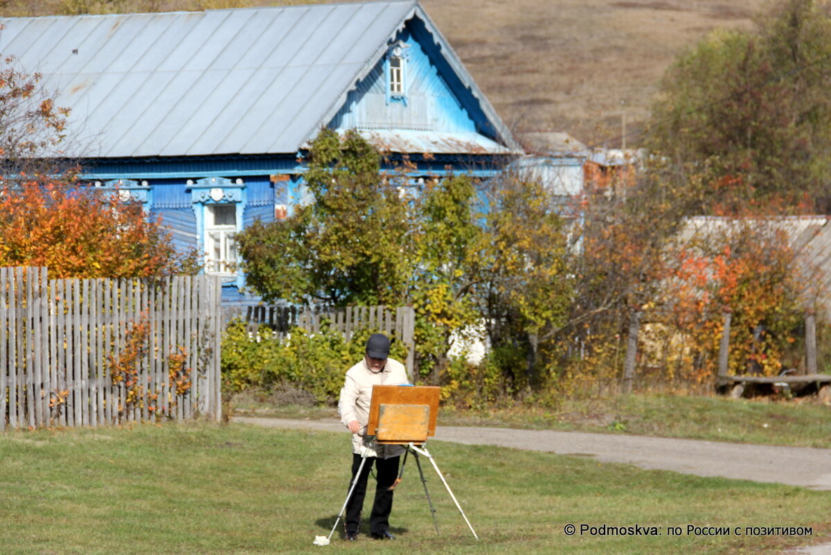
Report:
<svg viewBox="0 0 831 555"><path fill-rule="evenodd" d="M236 238L248 284L268 301L406 302L413 256L406 191L380 177L381 156L355 131L341 140L322 130L308 160L312 202Z"/></svg>

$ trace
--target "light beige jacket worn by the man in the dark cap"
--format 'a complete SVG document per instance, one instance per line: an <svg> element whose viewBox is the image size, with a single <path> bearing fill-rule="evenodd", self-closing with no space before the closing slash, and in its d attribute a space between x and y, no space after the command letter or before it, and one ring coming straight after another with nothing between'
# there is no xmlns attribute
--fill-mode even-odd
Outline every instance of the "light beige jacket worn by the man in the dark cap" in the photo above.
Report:
<svg viewBox="0 0 831 555"><path fill-rule="evenodd" d="M347 379L341 389L341 398L337 403L337 413L343 425L349 427L352 420L361 423L361 432L352 434L352 453L360 454L366 423L369 421L369 405L372 399L372 386L398 386L410 383L406 369L401 362L386 359L384 370L375 373L366 366L366 359L361 360L347 371ZM381 459L396 457L404 452L400 445L376 445L376 456ZM370 456L373 456L370 453Z"/></svg>

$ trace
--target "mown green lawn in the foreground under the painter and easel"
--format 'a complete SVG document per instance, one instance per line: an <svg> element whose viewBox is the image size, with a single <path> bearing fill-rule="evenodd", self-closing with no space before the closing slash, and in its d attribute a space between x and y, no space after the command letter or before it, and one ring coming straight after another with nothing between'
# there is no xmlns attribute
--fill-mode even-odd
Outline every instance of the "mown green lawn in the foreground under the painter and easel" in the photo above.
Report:
<svg viewBox="0 0 831 555"><path fill-rule="evenodd" d="M557 454L435 442L476 541L416 466L396 490L386 553L778 553L831 532L831 493L708 479ZM0 435L0 553L365 553L327 535L346 494L347 434L245 425L136 425ZM367 503L368 509L368 503ZM658 537L573 536L567 523L661 527ZM668 537L667 526L813 526L813 538ZM341 528L341 527L339 527ZM373 544L377 547L377 544Z"/></svg>

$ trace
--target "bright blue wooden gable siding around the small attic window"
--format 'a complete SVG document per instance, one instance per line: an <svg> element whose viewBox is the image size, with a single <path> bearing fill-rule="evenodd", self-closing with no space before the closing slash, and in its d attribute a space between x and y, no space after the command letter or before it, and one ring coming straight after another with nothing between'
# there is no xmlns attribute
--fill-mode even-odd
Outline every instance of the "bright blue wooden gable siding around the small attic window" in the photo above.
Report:
<svg viewBox="0 0 831 555"><path fill-rule="evenodd" d="M384 129L424 130L472 133L477 125L460 101L465 91L453 91L440 71L440 64L430 55L435 44L422 43L414 35L417 20L411 20L396 40L408 46L406 52L406 102L388 100L385 61L381 60L366 79L360 81L329 127L337 130ZM430 37L429 33L426 33ZM424 40L425 37L420 37ZM439 56L440 57L440 56ZM457 96L459 95L459 96ZM484 117L484 114L480 114Z"/></svg>

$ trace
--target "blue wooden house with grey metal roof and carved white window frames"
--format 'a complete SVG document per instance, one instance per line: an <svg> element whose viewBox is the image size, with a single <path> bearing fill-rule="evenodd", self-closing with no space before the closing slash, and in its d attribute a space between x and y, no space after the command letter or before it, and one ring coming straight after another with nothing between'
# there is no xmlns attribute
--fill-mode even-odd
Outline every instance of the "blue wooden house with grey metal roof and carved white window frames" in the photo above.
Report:
<svg viewBox="0 0 831 555"><path fill-rule="evenodd" d="M239 298L234 233L303 201L322 127L412 179L487 177L521 148L413 0L0 20L0 53L71 108L82 177L160 215Z"/></svg>

